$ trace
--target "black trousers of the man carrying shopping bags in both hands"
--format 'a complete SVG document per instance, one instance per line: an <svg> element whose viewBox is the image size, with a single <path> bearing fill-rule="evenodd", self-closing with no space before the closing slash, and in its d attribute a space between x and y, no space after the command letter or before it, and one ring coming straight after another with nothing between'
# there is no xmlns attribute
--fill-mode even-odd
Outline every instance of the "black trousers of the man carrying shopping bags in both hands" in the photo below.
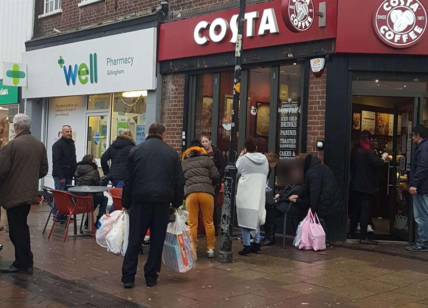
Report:
<svg viewBox="0 0 428 308"><path fill-rule="evenodd" d="M141 243L150 227L150 251L144 266L146 280L158 278L162 262L163 242L169 222L169 204L133 204L129 210L129 242L122 265L122 282L133 283L137 274Z"/></svg>

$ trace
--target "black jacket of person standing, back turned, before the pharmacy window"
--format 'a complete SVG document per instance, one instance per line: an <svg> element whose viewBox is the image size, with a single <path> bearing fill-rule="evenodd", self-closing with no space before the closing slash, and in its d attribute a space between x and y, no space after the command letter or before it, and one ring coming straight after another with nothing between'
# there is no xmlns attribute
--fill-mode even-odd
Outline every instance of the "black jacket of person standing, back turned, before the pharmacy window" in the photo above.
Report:
<svg viewBox="0 0 428 308"><path fill-rule="evenodd" d="M111 179L124 179L126 158L129 152L135 147L135 142L132 138L126 135L119 135L113 141L111 146L101 156L101 167L104 174L110 174ZM108 162L111 160L109 167Z"/></svg>

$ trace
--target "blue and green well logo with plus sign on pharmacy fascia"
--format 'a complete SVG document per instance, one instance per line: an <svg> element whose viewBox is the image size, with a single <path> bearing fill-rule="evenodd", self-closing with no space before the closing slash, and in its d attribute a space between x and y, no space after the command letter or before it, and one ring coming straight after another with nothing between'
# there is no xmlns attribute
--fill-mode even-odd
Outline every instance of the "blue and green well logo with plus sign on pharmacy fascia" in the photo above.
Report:
<svg viewBox="0 0 428 308"><path fill-rule="evenodd" d="M79 80L80 84L86 84L91 81L91 84L98 82L98 60L97 53L89 54L89 66L87 63L82 62L78 66L77 64L65 65L65 59L59 56L58 59L59 68L64 70L65 82L67 86L70 85L70 81L73 85Z"/></svg>

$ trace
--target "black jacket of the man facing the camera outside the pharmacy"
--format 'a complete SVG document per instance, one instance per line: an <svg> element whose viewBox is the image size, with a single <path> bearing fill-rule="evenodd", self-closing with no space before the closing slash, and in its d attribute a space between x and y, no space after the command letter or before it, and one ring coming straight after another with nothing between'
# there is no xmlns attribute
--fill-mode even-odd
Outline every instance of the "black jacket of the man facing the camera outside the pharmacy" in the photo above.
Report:
<svg viewBox="0 0 428 308"><path fill-rule="evenodd" d="M52 146L52 176L72 178L76 171L76 147L73 139L61 137Z"/></svg>

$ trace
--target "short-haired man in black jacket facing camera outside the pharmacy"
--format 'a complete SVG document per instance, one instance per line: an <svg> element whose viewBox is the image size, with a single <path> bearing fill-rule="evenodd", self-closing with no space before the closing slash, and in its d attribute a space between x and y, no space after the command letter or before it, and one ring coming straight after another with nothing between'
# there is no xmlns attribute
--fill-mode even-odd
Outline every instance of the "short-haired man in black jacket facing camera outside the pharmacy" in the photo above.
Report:
<svg viewBox="0 0 428 308"><path fill-rule="evenodd" d="M52 146L52 176L56 190L65 190L66 185L72 185L77 165L71 126L62 126L61 135ZM53 209L52 215L55 218L56 209ZM59 217L56 222L60 223L67 218L68 216Z"/></svg>

